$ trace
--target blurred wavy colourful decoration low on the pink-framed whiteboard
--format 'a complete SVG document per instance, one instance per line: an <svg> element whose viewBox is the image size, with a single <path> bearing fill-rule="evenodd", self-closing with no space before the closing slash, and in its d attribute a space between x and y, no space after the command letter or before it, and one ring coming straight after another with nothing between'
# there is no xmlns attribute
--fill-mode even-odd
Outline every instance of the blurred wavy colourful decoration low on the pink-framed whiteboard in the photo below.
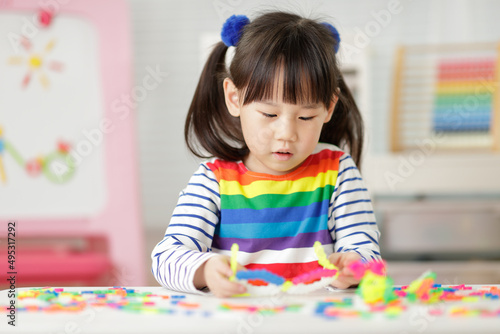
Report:
<svg viewBox="0 0 500 334"><path fill-rule="evenodd" d="M7 173L5 171L5 154L9 153L15 162L26 170L31 176L43 174L53 183L66 183L74 175L76 166L73 158L70 156L70 145L64 141L59 141L57 150L39 156L30 160L25 160L19 151L8 142L3 135L3 129L0 126L0 180L7 183Z"/></svg>

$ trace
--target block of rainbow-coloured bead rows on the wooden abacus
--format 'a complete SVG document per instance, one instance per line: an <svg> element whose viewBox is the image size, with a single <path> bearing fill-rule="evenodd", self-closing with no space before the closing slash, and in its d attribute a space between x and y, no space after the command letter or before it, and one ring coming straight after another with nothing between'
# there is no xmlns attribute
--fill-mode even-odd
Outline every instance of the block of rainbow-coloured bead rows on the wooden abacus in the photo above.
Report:
<svg viewBox="0 0 500 334"><path fill-rule="evenodd" d="M435 132L489 132L493 113L496 59L438 63L433 103Z"/></svg>

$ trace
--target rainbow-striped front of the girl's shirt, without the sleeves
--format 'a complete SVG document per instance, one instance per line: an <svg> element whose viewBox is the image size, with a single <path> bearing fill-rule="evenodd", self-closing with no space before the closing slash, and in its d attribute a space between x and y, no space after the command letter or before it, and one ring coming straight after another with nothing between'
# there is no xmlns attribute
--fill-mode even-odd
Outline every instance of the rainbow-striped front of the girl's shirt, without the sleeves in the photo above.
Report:
<svg viewBox="0 0 500 334"><path fill-rule="evenodd" d="M212 248L229 251L238 243L245 267L285 278L318 268L314 242L333 249L329 208L343 154L323 149L286 175L250 172L242 162L208 163L220 187Z"/></svg>

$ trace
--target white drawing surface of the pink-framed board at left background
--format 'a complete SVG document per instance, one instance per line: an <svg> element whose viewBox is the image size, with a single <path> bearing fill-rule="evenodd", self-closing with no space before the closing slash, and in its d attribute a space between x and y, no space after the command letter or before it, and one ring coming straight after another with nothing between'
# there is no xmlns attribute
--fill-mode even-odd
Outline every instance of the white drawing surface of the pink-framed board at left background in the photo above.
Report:
<svg viewBox="0 0 500 334"><path fill-rule="evenodd" d="M4 147L0 214L92 216L105 206L107 189L99 36L89 21L72 15L41 28L35 13L0 13L0 36L6 37L0 39L2 138L25 162L50 156L64 141L74 170L58 158L47 167L57 180L33 175ZM31 79L23 84L28 73Z"/></svg>

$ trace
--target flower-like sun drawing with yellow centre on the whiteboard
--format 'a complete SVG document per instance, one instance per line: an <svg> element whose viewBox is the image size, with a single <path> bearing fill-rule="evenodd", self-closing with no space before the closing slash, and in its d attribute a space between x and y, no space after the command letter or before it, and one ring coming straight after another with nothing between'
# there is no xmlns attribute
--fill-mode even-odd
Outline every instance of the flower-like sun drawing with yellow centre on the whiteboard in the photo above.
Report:
<svg viewBox="0 0 500 334"><path fill-rule="evenodd" d="M61 72L63 70L63 64L59 61L47 60L47 54L52 51L55 46L55 40L50 40L44 47L43 52L34 52L33 44L26 37L22 37L21 45L23 49L27 52L27 56L12 56L9 58L8 62L11 65L27 66L28 71L26 72L21 86L23 88L28 87L32 81L33 76L36 74L40 80L40 84L43 88L47 89L50 86L49 78L46 74L46 70Z"/></svg>

